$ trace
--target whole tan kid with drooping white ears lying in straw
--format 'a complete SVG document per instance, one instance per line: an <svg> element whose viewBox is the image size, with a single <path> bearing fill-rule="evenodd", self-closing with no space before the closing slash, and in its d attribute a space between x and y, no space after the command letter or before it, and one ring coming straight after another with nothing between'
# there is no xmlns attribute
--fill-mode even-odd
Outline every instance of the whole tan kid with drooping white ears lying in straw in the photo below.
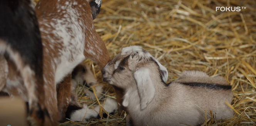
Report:
<svg viewBox="0 0 256 126"><path fill-rule="evenodd" d="M167 69L138 46L123 48L103 68L102 76L103 81L124 89L127 126L195 126L204 122L205 108L207 118L210 110L217 120L233 116L225 103L231 103L231 86L223 77L185 71L167 84Z"/></svg>

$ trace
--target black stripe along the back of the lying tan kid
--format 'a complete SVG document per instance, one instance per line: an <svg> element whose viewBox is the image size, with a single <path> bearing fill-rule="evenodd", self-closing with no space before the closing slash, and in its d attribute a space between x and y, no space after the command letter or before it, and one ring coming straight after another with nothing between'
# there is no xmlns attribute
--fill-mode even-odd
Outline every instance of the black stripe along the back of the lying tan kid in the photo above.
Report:
<svg viewBox="0 0 256 126"><path fill-rule="evenodd" d="M183 85L188 85L191 87L205 87L214 90L231 90L230 85L220 85L220 84L212 84L212 83L199 83L199 82L187 82L181 83Z"/></svg>

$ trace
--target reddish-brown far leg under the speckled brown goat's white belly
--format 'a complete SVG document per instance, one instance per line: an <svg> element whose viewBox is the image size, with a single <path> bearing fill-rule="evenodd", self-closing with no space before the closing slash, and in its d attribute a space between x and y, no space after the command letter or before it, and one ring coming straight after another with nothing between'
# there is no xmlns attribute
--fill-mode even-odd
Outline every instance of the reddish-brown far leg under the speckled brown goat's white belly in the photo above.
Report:
<svg viewBox="0 0 256 126"><path fill-rule="evenodd" d="M69 106L71 98L71 74L64 78L64 81L57 86L57 101L60 112L60 122L65 121L67 107Z"/></svg>

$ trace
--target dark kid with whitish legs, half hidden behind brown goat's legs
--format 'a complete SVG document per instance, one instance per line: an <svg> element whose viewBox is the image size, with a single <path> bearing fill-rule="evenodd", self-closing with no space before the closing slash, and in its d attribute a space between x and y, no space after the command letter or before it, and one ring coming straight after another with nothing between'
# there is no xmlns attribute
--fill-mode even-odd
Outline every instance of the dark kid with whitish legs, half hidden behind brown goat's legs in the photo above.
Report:
<svg viewBox="0 0 256 126"><path fill-rule="evenodd" d="M88 109L87 105L83 105L83 107L80 106L80 104L77 102L77 96L76 96L76 87L77 83L83 83L86 87L94 86L96 97L101 97L103 92L102 85L96 85L98 84L97 79L94 77L93 72L91 69L85 65L84 63L81 63L76 66L76 68L72 72L72 79L71 79L71 99L72 103L68 106L67 112L66 112L66 118L71 119L72 121L86 121L90 118L99 118L99 105L97 105L93 109ZM96 86L95 86L96 85ZM84 91L86 91L87 88L84 88ZM95 100L96 97L91 90L87 90L85 92L87 97L90 97L91 99ZM103 105L101 105L103 106ZM104 103L104 110L106 112L109 112L110 114L113 114L117 110L117 102L116 100L112 98L106 98L106 101ZM87 110L88 109L88 110ZM86 116L84 117L86 113ZM106 118L106 113L103 114L103 117ZM84 120L83 120L84 118Z"/></svg>

